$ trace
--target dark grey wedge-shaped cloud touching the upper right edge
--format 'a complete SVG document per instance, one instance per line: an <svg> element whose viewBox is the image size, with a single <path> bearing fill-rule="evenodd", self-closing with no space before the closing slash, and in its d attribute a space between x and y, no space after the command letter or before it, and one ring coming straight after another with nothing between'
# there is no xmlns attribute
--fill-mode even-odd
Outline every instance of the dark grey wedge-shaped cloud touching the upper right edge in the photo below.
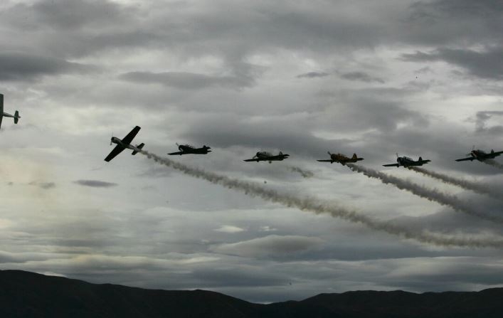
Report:
<svg viewBox="0 0 503 318"><path fill-rule="evenodd" d="M477 52L467 49L439 48L430 53L416 52L403 54L403 60L412 62L444 61L464 68L479 78L503 80L503 48L490 48Z"/></svg>

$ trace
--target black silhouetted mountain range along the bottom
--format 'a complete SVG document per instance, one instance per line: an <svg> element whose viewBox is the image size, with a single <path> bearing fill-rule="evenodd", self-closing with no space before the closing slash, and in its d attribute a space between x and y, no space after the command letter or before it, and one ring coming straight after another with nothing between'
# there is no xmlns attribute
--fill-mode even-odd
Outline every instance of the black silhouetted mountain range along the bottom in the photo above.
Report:
<svg viewBox="0 0 503 318"><path fill-rule="evenodd" d="M205 290L144 290L0 271L0 317L503 317L503 288L481 292L344 292L253 304Z"/></svg>

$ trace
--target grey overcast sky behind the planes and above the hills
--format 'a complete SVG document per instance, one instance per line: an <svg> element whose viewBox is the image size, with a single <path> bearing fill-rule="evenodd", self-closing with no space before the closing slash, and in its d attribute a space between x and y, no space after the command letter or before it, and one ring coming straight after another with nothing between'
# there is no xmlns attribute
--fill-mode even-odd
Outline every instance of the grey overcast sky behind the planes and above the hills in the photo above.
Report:
<svg viewBox="0 0 503 318"><path fill-rule="evenodd" d="M456 162L503 150L499 0L0 3L0 267L255 302L347 290L503 286L501 248L421 243L180 174L110 137L264 189L337 203L421 233L503 239L346 166L361 164L503 213L503 170ZM290 154L248 163L260 149ZM395 153L489 185L496 198L385 168ZM499 159L502 163L503 159ZM305 178L297 167L311 171Z"/></svg>

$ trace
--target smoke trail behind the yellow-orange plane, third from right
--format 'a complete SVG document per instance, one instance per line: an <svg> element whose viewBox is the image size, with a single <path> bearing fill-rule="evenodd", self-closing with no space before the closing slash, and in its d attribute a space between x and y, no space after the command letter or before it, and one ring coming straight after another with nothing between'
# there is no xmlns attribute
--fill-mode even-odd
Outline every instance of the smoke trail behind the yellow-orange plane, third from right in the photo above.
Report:
<svg viewBox="0 0 503 318"><path fill-rule="evenodd" d="M358 166L356 164L347 164L347 166L349 166L349 169L361 172L362 174L368 176L369 178L379 179L384 184L393 184L398 189L407 190L412 194L415 194L416 196L420 196L421 198L426 198L429 201L435 201L443 206L450 206L451 208L454 208L455 211L464 212L470 214L470 216L477 216L478 218L482 218L487 221L492 221L494 223L503 223L502 218L472 210L471 208L463 204L460 201L460 199L457 198L457 196L452 196L450 194L443 194L442 192L436 189L427 189L424 186L420 186L419 184L413 184L410 181L397 178L396 176L388 176L387 174L383 174L380 171L365 168L364 166Z"/></svg>

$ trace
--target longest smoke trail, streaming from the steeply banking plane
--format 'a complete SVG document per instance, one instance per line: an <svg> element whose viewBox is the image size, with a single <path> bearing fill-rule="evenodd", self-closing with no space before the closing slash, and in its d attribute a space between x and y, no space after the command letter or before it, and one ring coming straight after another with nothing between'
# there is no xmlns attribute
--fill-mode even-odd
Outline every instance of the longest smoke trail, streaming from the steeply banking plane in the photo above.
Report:
<svg viewBox="0 0 503 318"><path fill-rule="evenodd" d="M323 202L318 198L312 198L309 196L301 197L292 194L280 194L275 190L264 188L263 186L260 186L260 184L231 179L227 176L204 171L203 169L186 166L185 164L172 161L171 159L159 157L157 154L152 154L144 150L140 151L140 153L144 154L149 159L153 159L159 164L164 164L164 166L176 169L183 172L184 174L188 174L189 176L201 178L211 182L212 184L218 184L228 189L242 191L248 196L260 197L265 199L266 201L280 203L287 207L296 207L302 211L312 211L315 214L326 213L330 216L333 216L334 218L342 218L353 223L360 223L368 228L381 230L392 235L398 235L401 238L417 240L421 243L428 243L439 246L458 246L467 248L503 248L503 239L501 238L472 238L431 234L425 231L416 232L408 228L403 228L391 223L386 223L383 221L378 221L374 218L369 218L368 216L365 216L356 211L351 211L347 208L337 206L336 203L327 201Z"/></svg>

